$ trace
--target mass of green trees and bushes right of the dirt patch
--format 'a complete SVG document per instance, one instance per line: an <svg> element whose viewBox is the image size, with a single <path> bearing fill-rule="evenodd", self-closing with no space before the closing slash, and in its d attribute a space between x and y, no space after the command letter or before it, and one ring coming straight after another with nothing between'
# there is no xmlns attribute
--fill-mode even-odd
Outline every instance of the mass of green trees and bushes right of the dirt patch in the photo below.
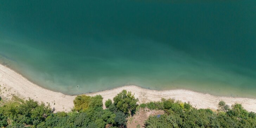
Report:
<svg viewBox="0 0 256 128"><path fill-rule="evenodd" d="M232 109L225 107L227 110L219 113L210 109L195 109L189 103L175 102L172 100L161 101L165 114L150 116L145 121L146 128L255 128L256 114L245 110L241 104L232 105ZM147 107L159 109L156 102L147 103ZM160 104L160 103L158 103Z"/></svg>

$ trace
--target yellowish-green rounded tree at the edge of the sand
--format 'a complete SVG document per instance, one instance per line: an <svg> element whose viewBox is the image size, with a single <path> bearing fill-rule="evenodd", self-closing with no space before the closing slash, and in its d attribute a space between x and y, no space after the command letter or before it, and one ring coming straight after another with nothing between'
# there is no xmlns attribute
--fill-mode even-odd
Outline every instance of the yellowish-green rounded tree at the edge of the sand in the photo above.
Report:
<svg viewBox="0 0 256 128"><path fill-rule="evenodd" d="M74 103L74 110L75 111L85 111L89 108L91 97L87 95L79 95L76 96Z"/></svg>

